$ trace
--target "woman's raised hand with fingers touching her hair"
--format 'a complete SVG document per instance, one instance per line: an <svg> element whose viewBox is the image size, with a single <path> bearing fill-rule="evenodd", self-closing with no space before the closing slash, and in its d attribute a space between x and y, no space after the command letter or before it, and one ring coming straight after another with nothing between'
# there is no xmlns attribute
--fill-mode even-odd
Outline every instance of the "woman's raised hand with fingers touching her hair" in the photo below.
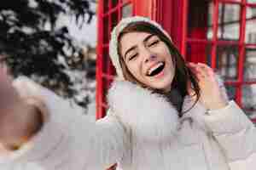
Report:
<svg viewBox="0 0 256 170"><path fill-rule="evenodd" d="M224 98L224 94L222 94L212 68L202 63L189 63L188 66L195 73L199 87L201 88L199 101L202 105L209 110L221 109L228 105L228 101ZM195 94L190 84L188 91L190 95Z"/></svg>

